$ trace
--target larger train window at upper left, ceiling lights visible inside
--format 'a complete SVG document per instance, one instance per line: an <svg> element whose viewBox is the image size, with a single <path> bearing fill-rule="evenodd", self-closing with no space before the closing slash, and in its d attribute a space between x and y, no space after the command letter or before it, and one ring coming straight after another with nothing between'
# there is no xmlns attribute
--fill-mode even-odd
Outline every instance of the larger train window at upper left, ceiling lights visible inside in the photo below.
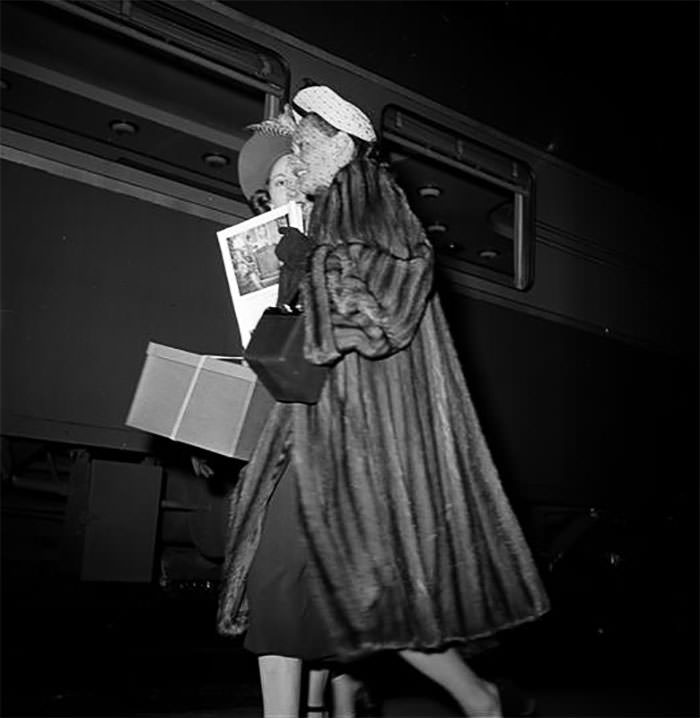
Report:
<svg viewBox="0 0 700 718"><path fill-rule="evenodd" d="M164 7L3 3L2 126L242 202L237 153L286 66Z"/></svg>

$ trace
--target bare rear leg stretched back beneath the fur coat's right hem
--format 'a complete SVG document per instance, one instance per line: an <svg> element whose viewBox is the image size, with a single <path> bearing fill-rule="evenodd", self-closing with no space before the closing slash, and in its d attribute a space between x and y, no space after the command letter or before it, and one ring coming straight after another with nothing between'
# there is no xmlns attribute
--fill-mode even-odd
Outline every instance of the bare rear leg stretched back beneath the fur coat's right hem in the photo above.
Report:
<svg viewBox="0 0 700 718"><path fill-rule="evenodd" d="M450 693L465 715L502 718L496 686L479 678L454 648L440 653L399 651L399 654Z"/></svg>

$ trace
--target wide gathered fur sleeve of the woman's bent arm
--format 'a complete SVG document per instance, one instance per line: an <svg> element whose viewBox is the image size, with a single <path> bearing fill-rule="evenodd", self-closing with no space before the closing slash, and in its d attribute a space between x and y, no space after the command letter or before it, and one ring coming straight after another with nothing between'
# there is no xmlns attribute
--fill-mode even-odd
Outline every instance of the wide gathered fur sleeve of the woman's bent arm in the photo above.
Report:
<svg viewBox="0 0 700 718"><path fill-rule="evenodd" d="M423 316L432 279L427 241L405 259L363 244L319 246L303 287L306 358L328 364L350 351L381 358L403 349Z"/></svg>

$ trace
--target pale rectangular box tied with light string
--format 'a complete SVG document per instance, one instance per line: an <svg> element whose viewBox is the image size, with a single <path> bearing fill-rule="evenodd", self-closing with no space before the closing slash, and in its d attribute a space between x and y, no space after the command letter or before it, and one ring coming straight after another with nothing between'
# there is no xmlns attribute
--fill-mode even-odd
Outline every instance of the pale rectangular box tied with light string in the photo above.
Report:
<svg viewBox="0 0 700 718"><path fill-rule="evenodd" d="M274 403L239 360L151 342L126 423L247 461Z"/></svg>

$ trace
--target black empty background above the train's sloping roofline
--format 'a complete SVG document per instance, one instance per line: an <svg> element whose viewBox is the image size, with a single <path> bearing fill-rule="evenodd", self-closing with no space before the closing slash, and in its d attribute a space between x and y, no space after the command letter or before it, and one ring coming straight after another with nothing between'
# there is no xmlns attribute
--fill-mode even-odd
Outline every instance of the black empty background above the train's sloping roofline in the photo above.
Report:
<svg viewBox="0 0 700 718"><path fill-rule="evenodd" d="M697 216L696 2L226 4Z"/></svg>

